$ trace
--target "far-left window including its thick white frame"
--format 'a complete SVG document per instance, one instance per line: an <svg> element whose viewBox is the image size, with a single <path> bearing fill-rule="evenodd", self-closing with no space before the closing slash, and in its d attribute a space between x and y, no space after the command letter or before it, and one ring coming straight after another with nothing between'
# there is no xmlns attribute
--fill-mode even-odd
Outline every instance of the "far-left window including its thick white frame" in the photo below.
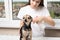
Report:
<svg viewBox="0 0 60 40"><path fill-rule="evenodd" d="M0 0L0 21L9 20L8 0Z"/></svg>

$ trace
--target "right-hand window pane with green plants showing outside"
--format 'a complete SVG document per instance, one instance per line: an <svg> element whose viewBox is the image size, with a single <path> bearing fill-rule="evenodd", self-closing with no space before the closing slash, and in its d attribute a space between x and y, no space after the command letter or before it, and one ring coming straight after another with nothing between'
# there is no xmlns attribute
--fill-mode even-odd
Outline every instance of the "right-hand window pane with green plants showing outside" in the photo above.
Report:
<svg viewBox="0 0 60 40"><path fill-rule="evenodd" d="M60 1L59 0L48 0L47 8L53 19L60 19Z"/></svg>

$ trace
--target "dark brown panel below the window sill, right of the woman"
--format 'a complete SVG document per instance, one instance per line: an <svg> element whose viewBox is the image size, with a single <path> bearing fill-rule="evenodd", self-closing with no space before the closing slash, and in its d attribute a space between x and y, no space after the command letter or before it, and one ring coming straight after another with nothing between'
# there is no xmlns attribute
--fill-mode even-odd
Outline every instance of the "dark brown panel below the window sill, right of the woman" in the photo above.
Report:
<svg viewBox="0 0 60 40"><path fill-rule="evenodd" d="M60 28L59 27L46 27L45 36L46 37L60 37Z"/></svg>

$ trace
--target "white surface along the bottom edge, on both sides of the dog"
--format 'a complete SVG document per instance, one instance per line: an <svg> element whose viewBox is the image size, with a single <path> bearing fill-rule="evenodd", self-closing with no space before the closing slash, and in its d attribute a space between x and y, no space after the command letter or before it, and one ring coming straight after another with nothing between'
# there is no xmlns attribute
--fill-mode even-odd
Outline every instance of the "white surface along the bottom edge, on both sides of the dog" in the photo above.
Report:
<svg viewBox="0 0 60 40"><path fill-rule="evenodd" d="M0 40L19 40L19 36L0 35ZM59 37L33 37L32 40L60 40Z"/></svg>

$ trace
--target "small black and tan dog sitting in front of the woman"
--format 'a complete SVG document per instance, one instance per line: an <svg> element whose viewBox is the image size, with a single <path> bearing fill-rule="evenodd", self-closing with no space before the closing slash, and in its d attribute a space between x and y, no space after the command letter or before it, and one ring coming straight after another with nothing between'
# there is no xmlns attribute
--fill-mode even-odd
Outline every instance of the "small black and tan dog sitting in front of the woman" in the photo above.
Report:
<svg viewBox="0 0 60 40"><path fill-rule="evenodd" d="M30 15L23 16L24 25L20 29L20 40L32 40L32 17Z"/></svg>

